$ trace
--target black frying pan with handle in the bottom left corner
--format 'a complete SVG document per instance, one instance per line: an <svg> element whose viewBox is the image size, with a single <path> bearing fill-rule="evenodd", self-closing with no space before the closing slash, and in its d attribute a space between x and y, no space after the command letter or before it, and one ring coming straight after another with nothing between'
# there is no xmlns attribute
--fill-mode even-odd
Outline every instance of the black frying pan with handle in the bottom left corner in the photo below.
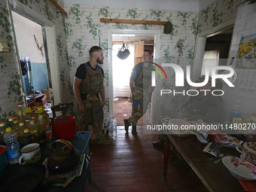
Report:
<svg viewBox="0 0 256 192"><path fill-rule="evenodd" d="M40 191L47 191L44 184L65 183L67 178L44 180L46 167L40 163L26 164L23 166L15 166L9 172L0 175L1 191L5 192L28 192L35 188ZM35 190L38 191L38 190Z"/></svg>

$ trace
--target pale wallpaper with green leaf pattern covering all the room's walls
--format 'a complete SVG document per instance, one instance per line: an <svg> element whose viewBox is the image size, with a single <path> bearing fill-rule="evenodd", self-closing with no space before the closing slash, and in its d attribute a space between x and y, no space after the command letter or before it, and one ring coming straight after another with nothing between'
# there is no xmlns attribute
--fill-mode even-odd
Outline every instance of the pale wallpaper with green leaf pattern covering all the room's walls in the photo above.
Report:
<svg viewBox="0 0 256 192"><path fill-rule="evenodd" d="M7 42L11 50L0 54L0 118L5 120L14 113L18 102L24 102L21 87L20 69L17 61L17 51L14 46L14 32L11 25L11 13L8 0L0 2L0 41ZM199 13L181 12L136 8L109 8L108 6L67 5L61 0L56 2L68 13L68 17L59 14L47 0L19 0L19 2L32 8L41 17L47 18L56 26L56 44L59 57L59 75L61 79L62 102L73 102L75 96L72 83L77 67L87 62L89 49L99 45L104 49L108 47L108 29L134 29L134 30L160 30L160 59L164 62L177 62L184 67L192 65L194 44L197 34L218 26L227 20L236 17L236 11L242 0L216 0ZM173 29L171 34L163 34L164 26L140 25L126 23L100 23L100 18L130 19L130 20L169 20ZM179 41L179 46L177 45ZM105 72L105 115L109 113L109 76L108 76L108 50L104 50L105 63L102 66ZM168 81L157 89L173 89L174 72L166 69ZM160 79L160 77L157 77ZM160 81L159 81L160 82ZM158 81L157 81L158 84ZM51 91L51 90L50 90ZM180 98L178 98L180 99ZM165 98L163 98L165 100ZM177 98L167 99L166 105L160 105L158 110L167 114L170 110L179 108ZM166 106L172 105L172 108ZM74 109L76 111L76 109ZM75 112L74 112L75 113Z"/></svg>

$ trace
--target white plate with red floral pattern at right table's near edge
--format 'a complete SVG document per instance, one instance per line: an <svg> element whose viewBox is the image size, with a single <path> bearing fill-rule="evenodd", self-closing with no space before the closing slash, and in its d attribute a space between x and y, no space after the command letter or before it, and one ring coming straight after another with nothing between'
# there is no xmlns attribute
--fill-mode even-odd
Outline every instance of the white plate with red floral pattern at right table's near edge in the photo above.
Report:
<svg viewBox="0 0 256 192"><path fill-rule="evenodd" d="M256 166L248 161L240 157L229 156L224 157L222 162L235 178L245 181L256 180Z"/></svg>

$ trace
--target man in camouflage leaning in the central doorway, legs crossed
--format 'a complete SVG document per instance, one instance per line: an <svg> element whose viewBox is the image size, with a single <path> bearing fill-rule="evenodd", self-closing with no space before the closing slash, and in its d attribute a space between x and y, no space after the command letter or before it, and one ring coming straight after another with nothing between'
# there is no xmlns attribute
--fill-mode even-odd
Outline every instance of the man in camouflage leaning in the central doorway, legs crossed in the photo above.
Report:
<svg viewBox="0 0 256 192"><path fill-rule="evenodd" d="M137 133L136 124L145 114L148 104L151 102L151 95L154 90L154 87L151 87L151 72L154 71L150 63L151 57L151 50L144 50L143 62L139 62L134 66L130 77L130 89L133 93L133 111L132 116L124 120L126 133L128 133L130 125L133 125L132 133Z"/></svg>

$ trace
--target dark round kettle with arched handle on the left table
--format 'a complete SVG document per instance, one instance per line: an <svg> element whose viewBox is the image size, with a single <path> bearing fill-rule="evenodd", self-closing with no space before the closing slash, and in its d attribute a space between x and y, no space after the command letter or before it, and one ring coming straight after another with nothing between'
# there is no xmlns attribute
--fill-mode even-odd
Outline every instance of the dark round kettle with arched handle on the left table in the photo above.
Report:
<svg viewBox="0 0 256 192"><path fill-rule="evenodd" d="M57 143L62 143L65 146L56 148ZM72 170L80 160L80 154L73 145L65 140L59 139L53 142L51 146L53 153L50 155L47 162L47 169L52 173L64 173Z"/></svg>

